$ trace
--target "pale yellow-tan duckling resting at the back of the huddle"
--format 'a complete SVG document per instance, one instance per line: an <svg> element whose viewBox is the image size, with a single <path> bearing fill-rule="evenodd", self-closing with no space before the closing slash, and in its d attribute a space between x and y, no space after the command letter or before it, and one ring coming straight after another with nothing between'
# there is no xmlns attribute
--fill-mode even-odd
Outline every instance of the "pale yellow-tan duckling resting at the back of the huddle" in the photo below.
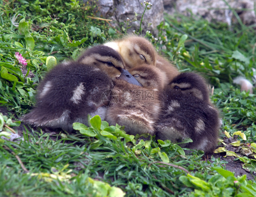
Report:
<svg viewBox="0 0 256 197"><path fill-rule="evenodd" d="M167 59L157 54L152 43L143 37L130 35L123 39L107 42L104 45L112 47L121 54L128 71L142 64L153 65L160 69L159 73L166 83L179 74L178 69Z"/></svg>

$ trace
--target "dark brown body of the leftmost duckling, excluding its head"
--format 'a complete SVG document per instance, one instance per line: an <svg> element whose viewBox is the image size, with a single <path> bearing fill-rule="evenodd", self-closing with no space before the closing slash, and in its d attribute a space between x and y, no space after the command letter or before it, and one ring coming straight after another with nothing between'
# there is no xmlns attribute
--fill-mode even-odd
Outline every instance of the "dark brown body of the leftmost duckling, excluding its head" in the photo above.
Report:
<svg viewBox="0 0 256 197"><path fill-rule="evenodd" d="M87 123L87 115L103 106L102 93L111 85L110 78L99 69L77 62L62 63L40 83L36 107L22 120L71 131L73 122Z"/></svg>

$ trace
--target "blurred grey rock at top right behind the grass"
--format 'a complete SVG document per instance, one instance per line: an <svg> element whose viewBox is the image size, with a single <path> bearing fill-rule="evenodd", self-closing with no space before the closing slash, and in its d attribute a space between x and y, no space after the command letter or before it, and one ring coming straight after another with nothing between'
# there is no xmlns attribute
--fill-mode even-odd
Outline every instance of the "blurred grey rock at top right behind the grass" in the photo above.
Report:
<svg viewBox="0 0 256 197"><path fill-rule="evenodd" d="M254 12L255 0L226 0L229 6L237 12L241 21L245 25L256 23ZM235 15L229 6L222 0L164 0L164 8L167 14L172 15L175 12L190 16L202 16L210 22L221 21L231 25L237 23Z"/></svg>

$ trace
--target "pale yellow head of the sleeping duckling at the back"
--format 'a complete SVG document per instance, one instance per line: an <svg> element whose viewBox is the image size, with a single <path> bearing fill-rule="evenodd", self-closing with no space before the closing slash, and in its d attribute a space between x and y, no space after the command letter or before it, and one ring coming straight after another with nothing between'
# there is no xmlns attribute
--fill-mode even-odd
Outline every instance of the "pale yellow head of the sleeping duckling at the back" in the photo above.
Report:
<svg viewBox="0 0 256 197"><path fill-rule="evenodd" d="M104 45L121 54L127 69L141 64L155 65L156 51L151 42L143 37L127 36L127 38L107 42Z"/></svg>

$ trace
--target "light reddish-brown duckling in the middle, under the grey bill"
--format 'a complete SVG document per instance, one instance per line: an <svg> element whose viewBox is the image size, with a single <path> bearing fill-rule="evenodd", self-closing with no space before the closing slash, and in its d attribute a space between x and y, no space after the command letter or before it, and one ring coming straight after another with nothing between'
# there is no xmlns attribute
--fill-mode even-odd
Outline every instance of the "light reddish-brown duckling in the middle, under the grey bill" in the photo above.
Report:
<svg viewBox="0 0 256 197"><path fill-rule="evenodd" d="M159 90L164 86L159 70L154 66L142 65L130 69L130 73L143 87L128 83L115 84L113 91L119 101L108 107L106 121L112 125L124 125L128 134L155 134L155 123L161 105Z"/></svg>

